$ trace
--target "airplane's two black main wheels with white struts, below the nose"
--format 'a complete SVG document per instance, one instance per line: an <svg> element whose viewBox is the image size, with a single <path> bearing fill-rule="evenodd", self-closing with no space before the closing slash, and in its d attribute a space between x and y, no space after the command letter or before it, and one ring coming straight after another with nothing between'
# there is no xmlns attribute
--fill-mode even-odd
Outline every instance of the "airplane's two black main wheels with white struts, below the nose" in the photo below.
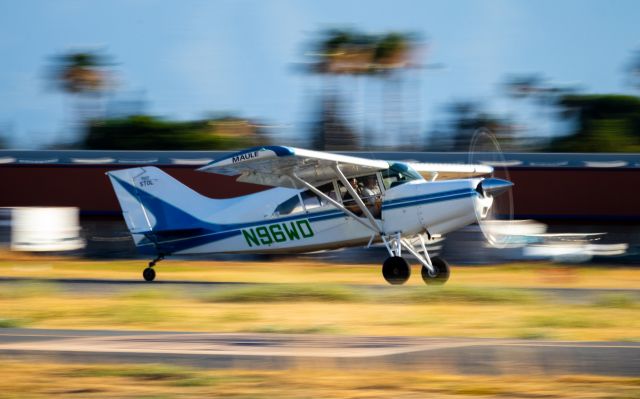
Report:
<svg viewBox="0 0 640 399"><path fill-rule="evenodd" d="M421 235L411 240L402 238L400 234L382 237L389 257L382 264L382 276L392 285L401 285L411 276L411 265L402 257L404 248L422 263L422 280L428 285L442 285L449 280L449 264L442 258L430 258L424 238Z"/></svg>

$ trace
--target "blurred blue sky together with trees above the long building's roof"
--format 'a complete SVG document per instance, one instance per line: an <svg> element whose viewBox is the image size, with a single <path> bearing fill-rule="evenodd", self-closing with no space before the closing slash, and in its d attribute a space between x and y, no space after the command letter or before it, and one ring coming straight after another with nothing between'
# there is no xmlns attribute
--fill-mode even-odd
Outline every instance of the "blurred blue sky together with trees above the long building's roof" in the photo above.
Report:
<svg viewBox="0 0 640 399"><path fill-rule="evenodd" d="M2 8L8 149L640 148L634 1Z"/></svg>

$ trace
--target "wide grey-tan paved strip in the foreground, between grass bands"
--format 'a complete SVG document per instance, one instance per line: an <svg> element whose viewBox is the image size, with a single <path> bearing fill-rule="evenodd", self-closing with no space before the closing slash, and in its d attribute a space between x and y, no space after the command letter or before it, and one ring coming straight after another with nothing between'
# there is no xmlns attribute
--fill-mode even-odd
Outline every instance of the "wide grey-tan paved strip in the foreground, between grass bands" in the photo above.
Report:
<svg viewBox="0 0 640 399"><path fill-rule="evenodd" d="M0 359L456 374L640 375L640 343L505 339L0 330Z"/></svg>

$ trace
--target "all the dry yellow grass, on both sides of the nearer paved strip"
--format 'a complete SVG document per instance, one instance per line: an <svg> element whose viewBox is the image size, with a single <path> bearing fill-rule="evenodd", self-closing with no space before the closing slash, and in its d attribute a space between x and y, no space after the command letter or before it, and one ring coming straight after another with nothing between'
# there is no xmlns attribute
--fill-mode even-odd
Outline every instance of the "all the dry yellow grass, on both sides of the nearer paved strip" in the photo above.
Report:
<svg viewBox="0 0 640 399"><path fill-rule="evenodd" d="M640 340L628 293L563 301L531 290L640 287L634 268L530 263L453 268L443 288L413 270L388 287L378 265L180 262L162 280L256 283L205 290L141 283L67 290L56 278L139 279L142 261L0 254L0 328L277 332L547 340ZM272 283L272 284L258 284ZM281 283L281 284L273 284ZM381 289L383 287L384 289ZM637 398L640 379L428 374L420 370L205 370L172 365L66 364L0 357L0 398Z"/></svg>

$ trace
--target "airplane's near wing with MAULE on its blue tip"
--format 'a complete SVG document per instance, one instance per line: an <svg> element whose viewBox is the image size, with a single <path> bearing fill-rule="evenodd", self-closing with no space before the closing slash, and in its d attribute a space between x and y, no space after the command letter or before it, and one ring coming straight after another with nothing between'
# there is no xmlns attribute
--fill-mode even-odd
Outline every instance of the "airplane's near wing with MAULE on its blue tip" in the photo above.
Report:
<svg viewBox="0 0 640 399"><path fill-rule="evenodd" d="M371 174L389 168L386 161L284 146L254 147L231 154L199 168L237 181L265 186L300 188L293 176L317 186L337 177L336 166L345 177Z"/></svg>

